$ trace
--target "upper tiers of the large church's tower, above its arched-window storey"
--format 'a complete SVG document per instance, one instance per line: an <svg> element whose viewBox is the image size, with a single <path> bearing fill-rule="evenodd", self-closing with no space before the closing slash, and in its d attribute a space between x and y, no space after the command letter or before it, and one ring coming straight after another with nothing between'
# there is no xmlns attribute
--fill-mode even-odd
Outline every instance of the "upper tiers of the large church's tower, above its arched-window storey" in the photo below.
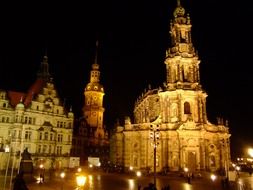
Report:
<svg viewBox="0 0 253 190"><path fill-rule="evenodd" d="M168 89L198 89L200 61L192 44L190 16L185 15L180 0L173 15L170 23L171 47L165 60Z"/></svg>

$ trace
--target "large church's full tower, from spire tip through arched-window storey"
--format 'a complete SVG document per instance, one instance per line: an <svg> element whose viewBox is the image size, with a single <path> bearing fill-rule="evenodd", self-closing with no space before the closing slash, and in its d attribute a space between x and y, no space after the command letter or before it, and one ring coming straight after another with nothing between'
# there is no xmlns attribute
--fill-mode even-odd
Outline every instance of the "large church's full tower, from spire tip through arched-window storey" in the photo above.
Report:
<svg viewBox="0 0 253 190"><path fill-rule="evenodd" d="M170 97L176 96L179 105L171 105L171 111L164 119L169 122L207 123L207 94L200 85L199 57L192 44L191 20L181 6L180 0L170 22L171 45L166 52L166 88Z"/></svg>

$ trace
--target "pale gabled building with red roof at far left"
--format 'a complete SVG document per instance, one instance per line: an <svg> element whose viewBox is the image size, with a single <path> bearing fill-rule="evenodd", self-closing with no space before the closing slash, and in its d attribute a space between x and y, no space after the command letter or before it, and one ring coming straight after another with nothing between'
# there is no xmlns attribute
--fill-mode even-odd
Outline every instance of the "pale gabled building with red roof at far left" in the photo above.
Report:
<svg viewBox="0 0 253 190"><path fill-rule="evenodd" d="M44 56L36 81L25 92L0 90L0 169L19 169L21 154L31 153L38 168L69 166L73 112L67 111Z"/></svg>

